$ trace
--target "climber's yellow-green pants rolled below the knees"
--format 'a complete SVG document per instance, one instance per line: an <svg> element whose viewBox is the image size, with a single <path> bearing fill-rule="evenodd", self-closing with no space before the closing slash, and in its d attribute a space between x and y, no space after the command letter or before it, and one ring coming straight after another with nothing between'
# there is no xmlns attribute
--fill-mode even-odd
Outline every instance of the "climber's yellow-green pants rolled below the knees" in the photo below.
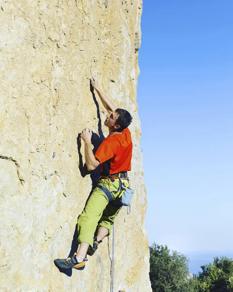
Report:
<svg viewBox="0 0 233 292"><path fill-rule="evenodd" d="M122 182L125 182L125 180L122 180ZM114 192L119 189L119 180L111 182L108 179L101 179L98 181L98 184L104 185L110 191ZM112 203L119 203L120 191L112 194ZM114 219L120 209L120 206L111 205L105 193L100 188L96 187L90 195L82 214L78 217L78 242L87 242L92 246L97 226L106 227L110 234Z"/></svg>

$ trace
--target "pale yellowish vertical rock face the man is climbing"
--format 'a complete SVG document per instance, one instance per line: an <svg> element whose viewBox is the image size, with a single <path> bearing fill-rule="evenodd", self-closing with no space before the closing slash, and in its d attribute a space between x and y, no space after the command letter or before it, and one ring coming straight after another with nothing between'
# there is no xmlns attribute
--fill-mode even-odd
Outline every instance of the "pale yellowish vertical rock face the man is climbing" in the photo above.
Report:
<svg viewBox="0 0 233 292"><path fill-rule="evenodd" d="M95 75L133 116L129 176L136 191L131 213L122 208L115 221L113 291L150 292L136 104L142 0L0 6L0 291L110 291L112 236L84 271L64 274L54 266L54 258L75 249L77 217L91 190L78 133L92 128L95 145L102 130L108 135L101 124L106 111L90 91Z"/></svg>

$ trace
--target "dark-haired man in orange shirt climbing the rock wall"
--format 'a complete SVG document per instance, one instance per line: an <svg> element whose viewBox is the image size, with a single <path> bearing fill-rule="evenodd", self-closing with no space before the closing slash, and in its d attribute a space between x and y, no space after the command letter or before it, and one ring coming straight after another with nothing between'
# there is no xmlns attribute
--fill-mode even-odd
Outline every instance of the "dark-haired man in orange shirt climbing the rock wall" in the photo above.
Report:
<svg viewBox="0 0 233 292"><path fill-rule="evenodd" d="M109 134L95 155L91 147L92 131L90 128L84 128L81 134L85 144L87 168L91 171L100 165L101 177L78 218L79 248L77 253L67 259L54 260L57 266L66 269L83 270L87 261L86 256L92 256L98 244L110 234L114 219L122 207L119 198L120 181L127 183L127 171L131 170L132 140L127 127L132 117L127 110L115 109L108 97L99 89L98 80L95 77L92 76L90 82L108 110L104 124L108 127ZM97 232L96 237L94 237L95 232Z"/></svg>

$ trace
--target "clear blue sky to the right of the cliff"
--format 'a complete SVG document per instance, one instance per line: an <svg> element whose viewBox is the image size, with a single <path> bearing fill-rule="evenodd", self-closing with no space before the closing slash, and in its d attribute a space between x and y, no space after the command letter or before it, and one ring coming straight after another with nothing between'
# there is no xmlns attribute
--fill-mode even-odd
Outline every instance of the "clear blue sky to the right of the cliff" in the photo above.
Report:
<svg viewBox="0 0 233 292"><path fill-rule="evenodd" d="M233 1L144 0L139 51L149 244L233 251Z"/></svg>

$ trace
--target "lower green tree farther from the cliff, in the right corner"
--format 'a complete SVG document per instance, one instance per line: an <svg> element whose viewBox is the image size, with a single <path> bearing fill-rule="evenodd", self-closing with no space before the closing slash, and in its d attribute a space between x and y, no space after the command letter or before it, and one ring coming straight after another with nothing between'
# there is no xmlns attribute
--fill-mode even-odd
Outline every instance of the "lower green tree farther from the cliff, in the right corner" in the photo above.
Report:
<svg viewBox="0 0 233 292"><path fill-rule="evenodd" d="M213 264L201 266L198 292L233 292L233 259L215 257Z"/></svg>

